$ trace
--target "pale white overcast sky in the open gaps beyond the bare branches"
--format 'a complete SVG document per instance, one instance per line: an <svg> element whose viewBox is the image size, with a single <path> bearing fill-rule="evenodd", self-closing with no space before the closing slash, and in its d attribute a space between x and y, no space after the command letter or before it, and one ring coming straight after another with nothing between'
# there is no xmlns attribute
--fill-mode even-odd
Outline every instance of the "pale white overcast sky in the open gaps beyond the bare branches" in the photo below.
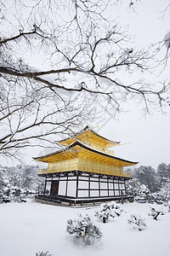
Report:
<svg viewBox="0 0 170 256"><path fill-rule="evenodd" d="M135 9L136 13L133 13L127 9L127 5L123 1L122 5L112 7L111 15L115 18L114 15L116 14L120 24L129 27L129 32L135 35L137 45L141 47L160 42L165 34L170 31L168 11L161 18L161 11L167 7L168 3L168 0L141 0ZM152 79L166 79L167 70L161 74L161 77L152 74ZM150 79L150 76L148 76L148 79ZM121 80L123 81L123 78ZM141 110L135 104L130 103L127 108L130 109L130 112L122 113L117 120L111 117L110 119L101 119L99 124L98 120L95 121L94 123L99 125L96 131L111 140L131 143L115 148L116 156L139 161L139 165L153 166L154 168L162 162L170 164L170 107L167 107L166 115L155 111L146 118L141 118ZM36 155L36 149L27 150L26 164L35 164L31 157ZM17 163L15 161L9 163L7 160L2 162L2 165L11 164Z"/></svg>

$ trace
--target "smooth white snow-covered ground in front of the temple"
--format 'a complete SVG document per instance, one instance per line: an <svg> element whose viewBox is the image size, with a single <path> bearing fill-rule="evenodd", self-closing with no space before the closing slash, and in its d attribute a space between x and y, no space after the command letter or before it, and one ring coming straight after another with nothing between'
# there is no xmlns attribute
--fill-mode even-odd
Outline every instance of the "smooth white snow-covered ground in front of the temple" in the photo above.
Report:
<svg viewBox="0 0 170 256"><path fill-rule="evenodd" d="M170 212L148 216L153 205L125 203L121 217L103 224L94 217L98 207L71 208L42 205L35 202L0 205L0 255L35 256L46 252L53 256L169 256ZM167 211L167 209L166 209ZM71 241L66 221L77 213L88 214L103 233L96 245L82 246ZM127 218L138 213L147 225L143 231L132 230Z"/></svg>

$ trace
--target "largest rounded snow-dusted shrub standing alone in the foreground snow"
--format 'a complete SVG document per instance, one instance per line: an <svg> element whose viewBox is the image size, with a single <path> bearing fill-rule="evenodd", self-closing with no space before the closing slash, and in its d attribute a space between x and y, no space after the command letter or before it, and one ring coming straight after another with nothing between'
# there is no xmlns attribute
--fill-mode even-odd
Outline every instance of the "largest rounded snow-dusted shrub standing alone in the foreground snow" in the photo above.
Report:
<svg viewBox="0 0 170 256"><path fill-rule="evenodd" d="M67 220L66 230L73 239L82 240L86 245L94 244L102 236L99 228L93 224L88 215L82 216L78 214L77 219Z"/></svg>

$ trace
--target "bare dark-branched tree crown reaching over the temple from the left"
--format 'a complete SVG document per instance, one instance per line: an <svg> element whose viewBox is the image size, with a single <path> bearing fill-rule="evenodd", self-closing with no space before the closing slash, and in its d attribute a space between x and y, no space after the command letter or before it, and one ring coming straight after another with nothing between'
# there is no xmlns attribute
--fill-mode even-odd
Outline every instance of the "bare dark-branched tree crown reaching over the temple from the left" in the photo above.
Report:
<svg viewBox="0 0 170 256"><path fill-rule="evenodd" d="M132 98L146 112L168 102L168 83L144 81L153 46L135 47L108 18L111 1L0 3L1 154L57 147L58 135L70 136L93 118L96 101L112 114ZM126 84L116 79L123 73L132 77Z"/></svg>

